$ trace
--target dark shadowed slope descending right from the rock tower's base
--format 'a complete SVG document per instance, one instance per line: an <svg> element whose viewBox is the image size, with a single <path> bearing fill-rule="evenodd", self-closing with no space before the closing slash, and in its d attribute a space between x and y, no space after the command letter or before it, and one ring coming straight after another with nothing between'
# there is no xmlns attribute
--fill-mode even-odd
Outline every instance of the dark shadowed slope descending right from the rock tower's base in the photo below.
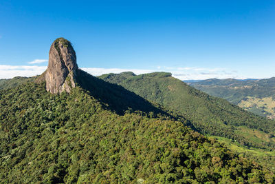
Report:
<svg viewBox="0 0 275 184"><path fill-rule="evenodd" d="M130 92L120 85L98 79L83 70L79 70L78 83L81 88L88 90L91 96L107 104L111 110L118 114L123 114L126 110L130 110L131 112L154 112L155 114L162 113L170 116L166 112L160 110L159 105L155 104L158 106L155 107L134 92Z"/></svg>

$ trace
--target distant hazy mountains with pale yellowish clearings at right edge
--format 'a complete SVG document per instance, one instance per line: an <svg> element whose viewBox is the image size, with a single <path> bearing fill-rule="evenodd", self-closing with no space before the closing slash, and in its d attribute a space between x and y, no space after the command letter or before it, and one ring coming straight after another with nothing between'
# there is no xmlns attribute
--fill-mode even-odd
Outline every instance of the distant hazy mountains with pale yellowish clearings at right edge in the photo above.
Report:
<svg viewBox="0 0 275 184"><path fill-rule="evenodd" d="M190 83L194 88L221 97L239 107L275 119L275 78L239 81L208 79Z"/></svg>

